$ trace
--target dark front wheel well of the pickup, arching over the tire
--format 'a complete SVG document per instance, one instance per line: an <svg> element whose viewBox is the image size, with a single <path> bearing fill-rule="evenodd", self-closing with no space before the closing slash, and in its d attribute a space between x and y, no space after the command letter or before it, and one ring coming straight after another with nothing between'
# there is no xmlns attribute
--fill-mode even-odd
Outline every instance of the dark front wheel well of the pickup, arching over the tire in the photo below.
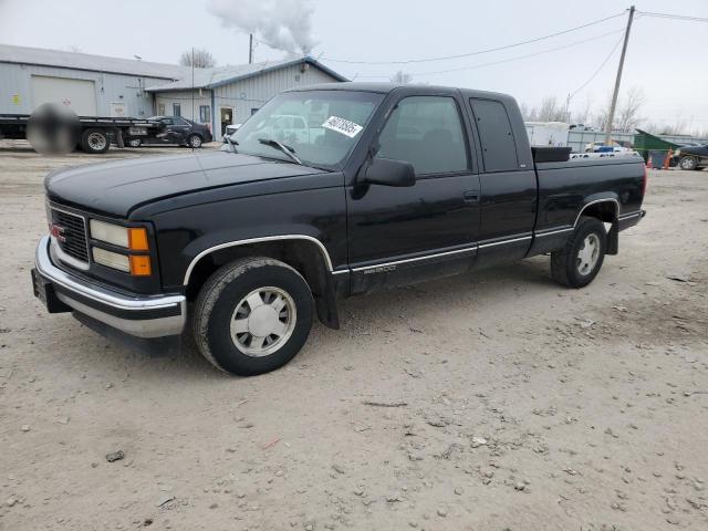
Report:
<svg viewBox="0 0 708 531"><path fill-rule="evenodd" d="M189 274L186 287L188 301L194 301L211 274L220 267L246 257L268 257L294 268L308 282L315 300L317 315L325 325L337 329L339 316L329 258L323 249L309 240L264 241L219 249L199 259Z"/></svg>

